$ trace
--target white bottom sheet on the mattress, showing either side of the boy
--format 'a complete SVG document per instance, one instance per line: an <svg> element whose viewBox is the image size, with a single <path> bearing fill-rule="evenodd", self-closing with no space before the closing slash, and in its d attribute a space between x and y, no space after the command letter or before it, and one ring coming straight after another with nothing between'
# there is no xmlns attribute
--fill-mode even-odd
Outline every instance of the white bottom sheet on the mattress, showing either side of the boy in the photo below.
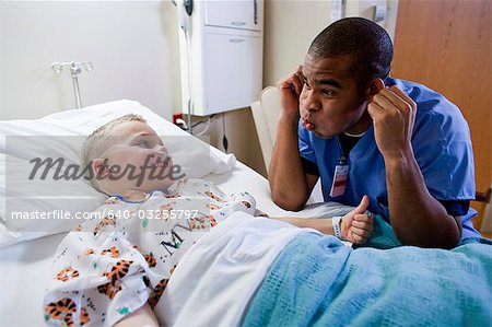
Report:
<svg viewBox="0 0 492 327"><path fill-rule="evenodd" d="M247 190L257 207L271 215L286 215L270 198L268 180L237 163L233 172L209 175L226 194ZM0 249L0 326L43 326L42 300L52 256L66 233Z"/></svg>

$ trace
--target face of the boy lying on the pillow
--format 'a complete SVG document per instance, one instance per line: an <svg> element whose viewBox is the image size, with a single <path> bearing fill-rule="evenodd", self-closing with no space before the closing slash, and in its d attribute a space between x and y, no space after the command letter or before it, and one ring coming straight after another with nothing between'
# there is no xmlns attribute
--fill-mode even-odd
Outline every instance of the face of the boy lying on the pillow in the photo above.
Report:
<svg viewBox="0 0 492 327"><path fill-rule="evenodd" d="M115 137L114 145L99 159L99 162L106 161L104 178L98 182L105 191L125 196L165 190L175 182L167 149L149 125L122 122L113 128L112 135Z"/></svg>

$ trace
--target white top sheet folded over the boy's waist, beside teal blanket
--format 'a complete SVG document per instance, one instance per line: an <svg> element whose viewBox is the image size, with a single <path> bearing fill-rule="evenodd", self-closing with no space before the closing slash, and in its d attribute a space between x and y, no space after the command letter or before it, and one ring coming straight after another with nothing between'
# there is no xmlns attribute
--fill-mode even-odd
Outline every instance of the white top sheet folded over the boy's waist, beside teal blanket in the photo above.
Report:
<svg viewBox="0 0 492 327"><path fill-rule="evenodd" d="M249 299L285 245L313 232L235 212L181 259L155 314L165 326L236 326Z"/></svg>

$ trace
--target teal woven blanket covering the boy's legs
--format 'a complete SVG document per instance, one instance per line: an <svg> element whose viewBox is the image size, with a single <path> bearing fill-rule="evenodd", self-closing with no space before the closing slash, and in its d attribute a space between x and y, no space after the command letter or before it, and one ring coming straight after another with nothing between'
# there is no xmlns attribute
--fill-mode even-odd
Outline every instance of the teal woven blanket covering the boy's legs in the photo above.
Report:
<svg viewBox="0 0 492 327"><path fill-rule="evenodd" d="M492 326L492 245L352 249L303 233L273 262L243 326Z"/></svg>

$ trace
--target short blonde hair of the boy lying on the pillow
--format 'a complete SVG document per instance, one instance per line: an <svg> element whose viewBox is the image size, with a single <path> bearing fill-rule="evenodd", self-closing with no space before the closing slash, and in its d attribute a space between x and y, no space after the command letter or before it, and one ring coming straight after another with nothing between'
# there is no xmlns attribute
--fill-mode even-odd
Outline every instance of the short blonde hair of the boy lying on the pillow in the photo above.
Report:
<svg viewBox="0 0 492 327"><path fill-rule="evenodd" d="M95 129L85 139L85 142L82 145L82 155L81 155L82 168L85 168L87 165L90 165L87 175L90 174L89 176L92 176L92 178L90 178L91 184L98 191L104 192L97 185L97 180L95 178L97 172L92 171L92 161L94 159L101 157L104 154L104 152L107 151L107 149L109 149L112 145L115 144L116 138L113 133L113 129L116 126L128 121L140 121L147 124L147 120L142 116L136 114L128 114L118 117Z"/></svg>

